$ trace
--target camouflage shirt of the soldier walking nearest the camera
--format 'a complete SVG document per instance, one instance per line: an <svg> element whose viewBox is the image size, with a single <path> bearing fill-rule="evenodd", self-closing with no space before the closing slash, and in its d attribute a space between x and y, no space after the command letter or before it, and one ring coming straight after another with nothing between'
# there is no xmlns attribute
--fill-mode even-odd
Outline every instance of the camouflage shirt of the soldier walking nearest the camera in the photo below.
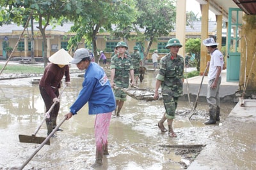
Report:
<svg viewBox="0 0 256 170"><path fill-rule="evenodd" d="M180 97L182 96L184 78L184 59L180 55L174 59L171 53L168 53L160 60L160 69L157 74L157 80L162 81L162 94Z"/></svg>

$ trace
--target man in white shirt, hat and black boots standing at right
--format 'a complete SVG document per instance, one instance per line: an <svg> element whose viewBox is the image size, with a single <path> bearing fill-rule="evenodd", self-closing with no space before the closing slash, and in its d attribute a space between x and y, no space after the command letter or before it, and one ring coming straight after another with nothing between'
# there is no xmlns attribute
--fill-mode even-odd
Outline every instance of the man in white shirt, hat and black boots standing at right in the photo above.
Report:
<svg viewBox="0 0 256 170"><path fill-rule="evenodd" d="M208 85L207 85L207 103L209 104L209 117L210 119L204 122L205 125L216 124L220 121L220 83L221 83L221 70L224 64L223 54L218 50L217 45L213 38L204 39L203 44L206 46L207 51L211 53L211 60L209 64Z"/></svg>

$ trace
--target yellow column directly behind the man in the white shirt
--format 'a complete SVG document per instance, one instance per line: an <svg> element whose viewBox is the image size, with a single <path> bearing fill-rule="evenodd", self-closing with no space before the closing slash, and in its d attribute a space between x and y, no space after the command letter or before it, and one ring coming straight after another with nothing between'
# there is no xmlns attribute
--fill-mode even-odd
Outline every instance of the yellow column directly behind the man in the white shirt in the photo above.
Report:
<svg viewBox="0 0 256 170"><path fill-rule="evenodd" d="M201 40L208 38L208 15L209 15L209 3L200 4L202 13L202 27L201 27ZM204 74L204 70L207 61L210 60L210 55L207 53L205 45L201 42L201 53L200 53L200 75Z"/></svg>

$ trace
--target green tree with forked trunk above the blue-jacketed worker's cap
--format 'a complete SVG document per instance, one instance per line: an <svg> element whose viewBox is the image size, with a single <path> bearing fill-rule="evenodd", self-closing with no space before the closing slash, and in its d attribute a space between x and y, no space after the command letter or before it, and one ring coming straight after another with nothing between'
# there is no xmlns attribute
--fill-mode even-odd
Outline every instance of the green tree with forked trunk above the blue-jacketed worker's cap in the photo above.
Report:
<svg viewBox="0 0 256 170"><path fill-rule="evenodd" d="M134 1L91 1L86 4L86 12L81 13L74 19L74 26L71 32L76 32L68 42L70 46L78 46L82 39L88 46L92 44L95 61L97 62L97 34L99 32L111 32L112 25L119 25L124 28L134 20Z"/></svg>

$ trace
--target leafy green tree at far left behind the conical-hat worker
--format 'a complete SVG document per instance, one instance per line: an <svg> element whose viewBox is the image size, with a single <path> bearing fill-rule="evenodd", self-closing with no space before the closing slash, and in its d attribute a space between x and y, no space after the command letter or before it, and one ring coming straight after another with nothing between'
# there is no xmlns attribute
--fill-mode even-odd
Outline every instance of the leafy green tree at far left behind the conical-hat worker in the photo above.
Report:
<svg viewBox="0 0 256 170"><path fill-rule="evenodd" d="M90 1L90 0L88 0ZM65 21L65 17L69 16L72 18L76 16L77 13L82 13L84 1L77 0L19 0L19 1L0 1L0 6L2 8L1 13L7 11L12 18L12 21L19 25L22 24L23 20L30 13L33 14L33 18L38 21L38 29L42 34L44 41L44 66L47 66L47 39L45 35L45 30L48 25L57 25ZM6 10L8 9L8 10ZM76 9L76 10L74 10ZM0 17L1 20L8 20L7 18Z"/></svg>

